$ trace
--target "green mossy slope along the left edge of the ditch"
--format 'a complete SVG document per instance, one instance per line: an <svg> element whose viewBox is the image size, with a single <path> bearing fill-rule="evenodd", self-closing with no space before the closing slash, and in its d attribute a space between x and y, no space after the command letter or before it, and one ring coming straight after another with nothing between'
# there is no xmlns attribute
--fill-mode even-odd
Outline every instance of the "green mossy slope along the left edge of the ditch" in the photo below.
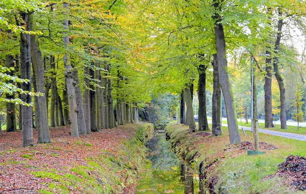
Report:
<svg viewBox="0 0 306 194"><path fill-rule="evenodd" d="M135 183L137 172L144 167L144 143L153 132L151 124L134 124L134 127L135 136L125 140L116 155L104 150L97 156L86 158L87 165L74 166L66 172L57 169L31 172L36 177L54 180L40 193L123 192L125 186Z"/></svg>

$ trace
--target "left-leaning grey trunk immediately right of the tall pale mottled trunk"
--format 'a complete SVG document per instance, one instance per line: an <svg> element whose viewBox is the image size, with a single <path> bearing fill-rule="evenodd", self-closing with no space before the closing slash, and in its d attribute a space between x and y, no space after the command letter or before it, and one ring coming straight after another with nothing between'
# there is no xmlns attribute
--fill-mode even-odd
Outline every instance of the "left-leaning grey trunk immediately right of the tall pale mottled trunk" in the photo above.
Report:
<svg viewBox="0 0 306 194"><path fill-rule="evenodd" d="M73 81L74 81L74 92L75 92L75 102L78 107L78 129L79 135L86 135L86 123L85 123L85 114L83 107L83 97L81 92L81 87L79 84L78 69L73 69Z"/></svg>

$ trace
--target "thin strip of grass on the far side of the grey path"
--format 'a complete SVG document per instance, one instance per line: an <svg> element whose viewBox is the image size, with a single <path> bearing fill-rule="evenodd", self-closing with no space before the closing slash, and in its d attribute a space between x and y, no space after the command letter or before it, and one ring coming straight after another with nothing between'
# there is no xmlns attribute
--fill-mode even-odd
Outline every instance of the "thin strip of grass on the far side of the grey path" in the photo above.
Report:
<svg viewBox="0 0 306 194"><path fill-rule="evenodd" d="M212 120L212 119L208 118L208 120ZM222 120L222 124L227 124L227 120ZM248 124L246 124L245 121L240 122L239 120L238 125L243 126L243 127L251 127L251 121L249 120ZM297 130L297 126L289 126L289 125L287 125L287 129L281 129L281 125L274 125L274 128L265 128L264 123L259 123L258 128L272 130L272 131L281 131L281 132L287 132L287 133L296 133L296 134L306 135L306 127L299 127L299 130Z"/></svg>

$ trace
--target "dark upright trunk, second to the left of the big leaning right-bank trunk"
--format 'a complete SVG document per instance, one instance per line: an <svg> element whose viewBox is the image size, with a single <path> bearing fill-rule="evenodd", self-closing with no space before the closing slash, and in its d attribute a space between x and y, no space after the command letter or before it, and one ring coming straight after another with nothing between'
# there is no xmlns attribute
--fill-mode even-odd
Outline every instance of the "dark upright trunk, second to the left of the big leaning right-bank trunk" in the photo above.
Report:
<svg viewBox="0 0 306 194"><path fill-rule="evenodd" d="M199 110L198 110L198 124L199 131L207 131L208 120L206 114L206 69L207 66L200 64L199 71L199 80L198 80L198 99L199 99Z"/></svg>

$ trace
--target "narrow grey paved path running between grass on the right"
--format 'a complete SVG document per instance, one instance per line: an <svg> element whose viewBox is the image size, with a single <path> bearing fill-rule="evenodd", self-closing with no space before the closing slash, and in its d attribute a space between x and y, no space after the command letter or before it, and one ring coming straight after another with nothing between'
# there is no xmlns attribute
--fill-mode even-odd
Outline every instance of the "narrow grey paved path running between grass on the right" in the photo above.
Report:
<svg viewBox="0 0 306 194"><path fill-rule="evenodd" d="M208 123L212 123L212 121L209 120ZM222 124L222 126L227 127L227 124ZM244 130L251 131L250 127L238 126L238 128L239 129L243 128ZM258 129L258 132L259 133L266 133L266 134L270 134L270 135L275 135L275 136L279 136L279 137L286 137L286 138L290 138L290 139L306 141L306 135L286 133L286 132L280 132L280 131L272 131L272 130L266 130L266 129Z"/></svg>

